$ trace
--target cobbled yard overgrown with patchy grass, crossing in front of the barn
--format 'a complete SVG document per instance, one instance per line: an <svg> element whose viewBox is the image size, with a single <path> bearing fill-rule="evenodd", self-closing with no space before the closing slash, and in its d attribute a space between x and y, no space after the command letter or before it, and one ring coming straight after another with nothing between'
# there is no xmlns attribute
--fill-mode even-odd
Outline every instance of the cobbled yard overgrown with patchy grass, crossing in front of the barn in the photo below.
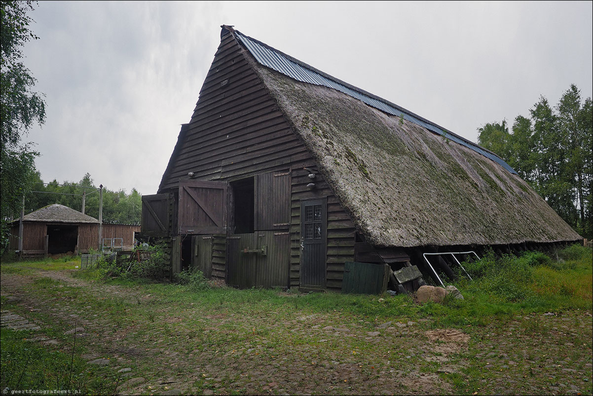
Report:
<svg viewBox="0 0 593 396"><path fill-rule="evenodd" d="M38 288L40 276L56 282ZM2 327L64 350L76 334L82 357L120 378L118 394L591 394L591 312L435 329L296 303L288 314L172 306L147 290L3 273Z"/></svg>

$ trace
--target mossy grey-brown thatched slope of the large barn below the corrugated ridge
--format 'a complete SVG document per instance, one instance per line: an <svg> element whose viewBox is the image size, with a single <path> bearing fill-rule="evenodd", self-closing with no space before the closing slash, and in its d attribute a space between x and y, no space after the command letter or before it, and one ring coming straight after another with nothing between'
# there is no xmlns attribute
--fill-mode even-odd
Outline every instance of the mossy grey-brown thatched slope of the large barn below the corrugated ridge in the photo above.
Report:
<svg viewBox="0 0 593 396"><path fill-rule="evenodd" d="M245 54L368 242L411 247L581 239L524 180L479 150Z"/></svg>

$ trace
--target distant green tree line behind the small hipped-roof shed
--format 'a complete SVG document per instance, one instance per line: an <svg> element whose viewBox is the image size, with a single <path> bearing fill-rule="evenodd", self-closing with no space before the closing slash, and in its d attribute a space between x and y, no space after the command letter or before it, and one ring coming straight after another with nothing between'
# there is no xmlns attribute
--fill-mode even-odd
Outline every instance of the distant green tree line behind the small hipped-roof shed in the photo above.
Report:
<svg viewBox="0 0 593 396"><path fill-rule="evenodd" d="M35 172L31 191L25 195L25 214L51 204L61 204L82 211L84 214L99 218L99 192L91 175L88 173L79 182L59 183L53 179L44 183L39 172ZM142 195L132 189L126 194L123 189L112 191L103 188L103 223L140 225L142 213Z"/></svg>

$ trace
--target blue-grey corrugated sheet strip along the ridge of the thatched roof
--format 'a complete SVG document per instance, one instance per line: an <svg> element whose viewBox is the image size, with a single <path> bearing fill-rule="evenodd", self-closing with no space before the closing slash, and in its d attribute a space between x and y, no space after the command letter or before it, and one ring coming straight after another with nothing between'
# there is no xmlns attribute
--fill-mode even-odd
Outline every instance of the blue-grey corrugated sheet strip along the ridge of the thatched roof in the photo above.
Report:
<svg viewBox="0 0 593 396"><path fill-rule="evenodd" d="M417 125L423 126L435 134L442 135L449 140L464 145L471 150L477 151L477 153L480 153L484 157L495 161L511 173L517 173L514 169L512 169L511 166L509 166L509 164L500 159L500 157L496 156L496 154L484 150L484 148L466 140L463 137L460 137L459 135L456 135L450 131L446 131L444 128L441 128L441 126L438 126L435 123L429 122L426 119L413 114L412 112L402 109L393 103L387 102L386 100L381 100L378 97L372 97L370 94L366 94L361 90L356 90L354 87L347 87L345 84L334 80L328 75L321 74L321 72L318 72L313 68L308 68L307 65L297 61L296 59L289 59L289 57L287 57L285 54L273 49L270 46L264 45L262 42L252 39L251 37L244 36L237 30L235 30L234 33L241 43L243 43L243 45L249 50L251 55L256 58L257 62L264 66L285 74L288 77L294 78L295 80L302 81L303 83L323 85L325 87L336 89L358 100L362 100L362 102L368 104L369 106L375 107L382 112L398 117L403 116L403 118L407 121L416 123Z"/></svg>

